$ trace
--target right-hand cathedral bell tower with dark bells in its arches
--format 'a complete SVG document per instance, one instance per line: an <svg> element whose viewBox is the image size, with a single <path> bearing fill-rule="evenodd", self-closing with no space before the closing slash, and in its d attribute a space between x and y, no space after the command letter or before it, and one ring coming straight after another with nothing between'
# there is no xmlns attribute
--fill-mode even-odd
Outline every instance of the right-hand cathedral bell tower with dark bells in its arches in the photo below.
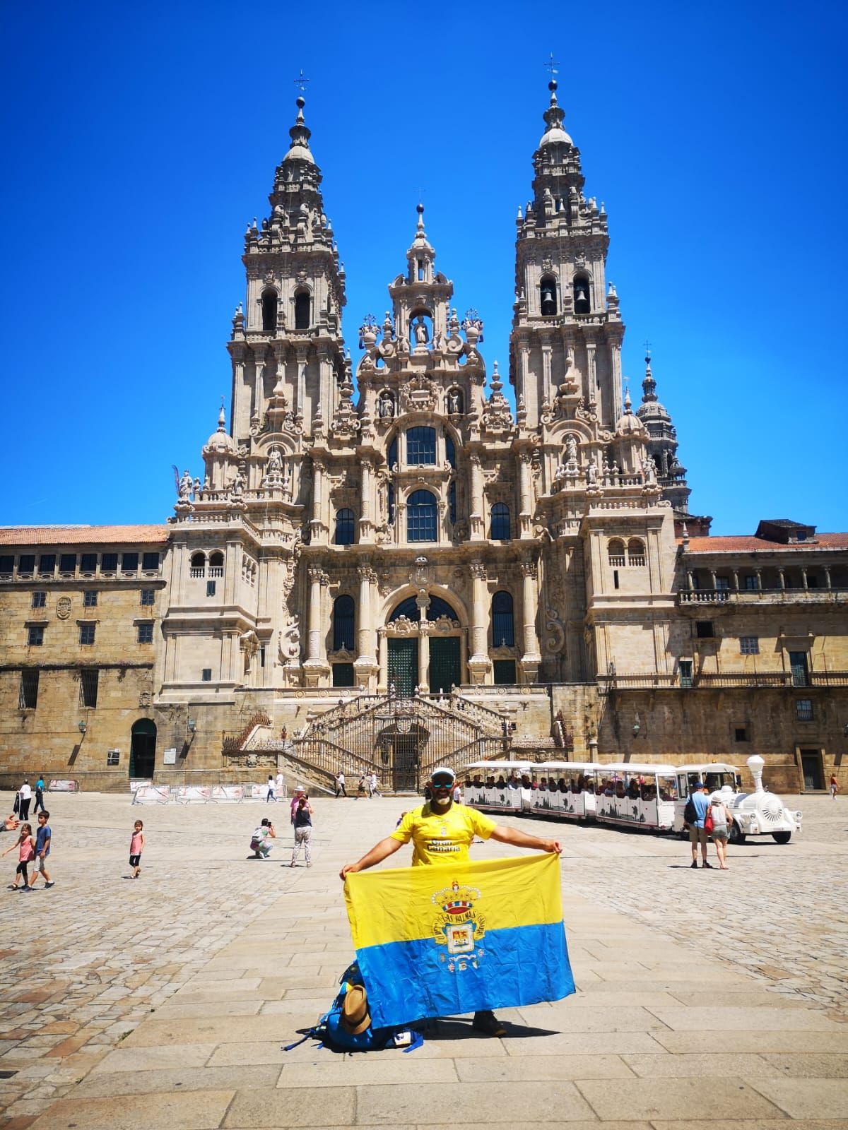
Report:
<svg viewBox="0 0 848 1130"><path fill-rule="evenodd" d="M519 208L510 381L528 426L568 389L606 427L621 415L624 325L606 282L604 205L583 195L580 150L563 128L556 80L533 155L533 200Z"/></svg>

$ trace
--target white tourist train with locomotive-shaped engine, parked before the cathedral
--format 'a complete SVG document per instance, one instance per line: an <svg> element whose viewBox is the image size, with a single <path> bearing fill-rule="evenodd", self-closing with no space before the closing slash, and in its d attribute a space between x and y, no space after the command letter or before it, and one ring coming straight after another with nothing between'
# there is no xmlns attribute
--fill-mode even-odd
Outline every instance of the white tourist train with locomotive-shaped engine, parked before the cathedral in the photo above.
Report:
<svg viewBox="0 0 848 1130"><path fill-rule="evenodd" d="M474 808L680 835L685 835L686 798L703 781L709 796L720 796L733 814L732 842L770 835L788 843L801 831L802 814L763 789L763 765L762 757L747 759L752 792L742 791L738 767L726 762L475 762L462 776L465 802Z"/></svg>

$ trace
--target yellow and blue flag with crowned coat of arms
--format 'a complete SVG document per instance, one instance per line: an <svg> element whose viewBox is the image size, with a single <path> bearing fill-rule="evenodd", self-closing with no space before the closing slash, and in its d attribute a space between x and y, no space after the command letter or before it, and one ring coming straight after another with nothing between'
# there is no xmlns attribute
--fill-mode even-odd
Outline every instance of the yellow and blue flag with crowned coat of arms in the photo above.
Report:
<svg viewBox="0 0 848 1130"><path fill-rule="evenodd" d="M554 853L349 873L345 902L374 1027L574 991Z"/></svg>

